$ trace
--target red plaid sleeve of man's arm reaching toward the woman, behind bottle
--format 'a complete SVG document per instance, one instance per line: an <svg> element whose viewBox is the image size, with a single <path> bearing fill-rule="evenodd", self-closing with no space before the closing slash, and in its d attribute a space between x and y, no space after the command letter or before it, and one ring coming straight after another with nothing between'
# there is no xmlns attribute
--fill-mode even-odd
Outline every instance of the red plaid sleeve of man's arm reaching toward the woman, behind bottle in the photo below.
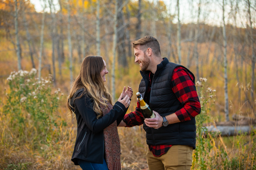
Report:
<svg viewBox="0 0 256 170"><path fill-rule="evenodd" d="M140 126L144 123L144 117L141 113L141 106L139 100L137 101L137 107L134 112L125 114L123 121L126 123L125 127Z"/></svg>

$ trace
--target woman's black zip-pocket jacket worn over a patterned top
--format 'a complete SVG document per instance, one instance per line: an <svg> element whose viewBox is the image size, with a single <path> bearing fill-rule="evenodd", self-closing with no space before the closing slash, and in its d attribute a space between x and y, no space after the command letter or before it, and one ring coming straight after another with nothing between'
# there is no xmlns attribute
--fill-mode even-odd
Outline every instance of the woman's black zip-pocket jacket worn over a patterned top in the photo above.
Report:
<svg viewBox="0 0 256 170"><path fill-rule="evenodd" d="M93 111L93 99L86 95L75 99L82 92L83 90L78 90L70 101L71 106L75 108L75 111L74 109L72 110L75 112L77 119L77 138L71 160L75 165L78 165L78 159L103 163L103 129L110 126L115 120L119 125L128 108L125 108L122 103L117 101L108 114L97 119L96 113Z"/></svg>

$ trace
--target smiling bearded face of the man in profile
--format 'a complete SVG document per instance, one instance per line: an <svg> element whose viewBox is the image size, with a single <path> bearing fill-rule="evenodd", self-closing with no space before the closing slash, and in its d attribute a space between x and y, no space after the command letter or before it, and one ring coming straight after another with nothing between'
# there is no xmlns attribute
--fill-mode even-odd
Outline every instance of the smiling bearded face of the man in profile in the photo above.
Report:
<svg viewBox="0 0 256 170"><path fill-rule="evenodd" d="M148 69L148 65L150 63L150 59L140 49L134 48L134 55L135 55L135 63L138 63L141 67L141 71L146 71Z"/></svg>

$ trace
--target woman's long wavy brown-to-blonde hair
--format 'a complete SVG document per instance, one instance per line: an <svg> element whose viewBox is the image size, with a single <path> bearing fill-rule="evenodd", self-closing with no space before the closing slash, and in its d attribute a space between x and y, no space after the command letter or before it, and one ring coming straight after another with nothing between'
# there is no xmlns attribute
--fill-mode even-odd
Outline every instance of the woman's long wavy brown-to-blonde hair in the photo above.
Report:
<svg viewBox="0 0 256 170"><path fill-rule="evenodd" d="M71 110L73 107L70 105L70 101L79 89L84 89L84 91L82 95L76 97L75 99L82 97L84 94L88 97L91 97L94 100L93 110L98 114L97 119L100 116L103 116L103 111L100 108L100 104L104 105L105 109L108 107L108 102L113 105L113 100L108 91L108 87L103 82L103 79L100 75L100 72L103 69L104 62L102 57L87 56L84 58L80 73L76 80L73 82L69 96L67 97L67 108L70 111L68 117L72 117L73 115L73 111Z"/></svg>

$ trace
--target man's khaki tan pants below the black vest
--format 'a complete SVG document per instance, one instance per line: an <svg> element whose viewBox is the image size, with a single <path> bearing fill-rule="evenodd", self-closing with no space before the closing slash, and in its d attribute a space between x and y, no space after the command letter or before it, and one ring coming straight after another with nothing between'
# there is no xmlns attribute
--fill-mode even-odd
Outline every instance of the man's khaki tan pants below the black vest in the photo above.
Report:
<svg viewBox="0 0 256 170"><path fill-rule="evenodd" d="M190 170L192 166L193 147L173 145L159 157L148 149L146 158L149 170Z"/></svg>

